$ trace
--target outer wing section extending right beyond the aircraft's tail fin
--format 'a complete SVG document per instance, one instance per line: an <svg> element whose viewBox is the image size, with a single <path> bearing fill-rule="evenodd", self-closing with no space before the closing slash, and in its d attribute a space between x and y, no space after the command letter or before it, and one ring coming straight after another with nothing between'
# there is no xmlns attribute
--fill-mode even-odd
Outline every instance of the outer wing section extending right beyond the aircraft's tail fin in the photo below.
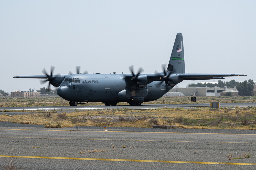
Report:
<svg viewBox="0 0 256 170"><path fill-rule="evenodd" d="M184 80L211 80L223 79L223 77L246 76L244 74L178 74Z"/></svg>

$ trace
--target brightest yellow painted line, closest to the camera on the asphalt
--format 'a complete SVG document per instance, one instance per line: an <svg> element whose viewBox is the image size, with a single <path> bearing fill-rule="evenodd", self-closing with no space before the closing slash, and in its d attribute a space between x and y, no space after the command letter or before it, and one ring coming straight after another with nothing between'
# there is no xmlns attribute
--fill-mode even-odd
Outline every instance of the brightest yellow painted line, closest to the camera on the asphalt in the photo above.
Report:
<svg viewBox="0 0 256 170"><path fill-rule="evenodd" d="M69 160L88 160L88 161L159 162L159 163L187 163L187 164L254 165L254 166L256 165L255 163L233 163L233 162L157 161L157 160L101 159L101 158L74 158L74 157L44 157L44 156L10 156L10 155L0 155L0 157L39 158L39 159L69 159Z"/></svg>

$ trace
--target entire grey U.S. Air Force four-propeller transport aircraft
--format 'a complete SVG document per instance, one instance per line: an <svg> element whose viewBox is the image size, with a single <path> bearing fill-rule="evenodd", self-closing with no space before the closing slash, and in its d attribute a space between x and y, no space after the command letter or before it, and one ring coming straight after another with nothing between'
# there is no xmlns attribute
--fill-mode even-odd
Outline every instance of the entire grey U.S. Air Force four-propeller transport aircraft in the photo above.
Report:
<svg viewBox="0 0 256 170"><path fill-rule="evenodd" d="M141 74L142 68L135 74L130 66L131 74L88 74L52 75L43 70L45 75L14 76L14 78L45 78L59 87L57 94L69 101L70 106L85 102L103 102L106 106L115 106L119 102L127 102L131 106L140 106L146 101L162 97L176 84L183 80L223 79L229 76L245 76L244 74L186 74L182 33L177 33L173 51L167 69L155 74Z"/></svg>

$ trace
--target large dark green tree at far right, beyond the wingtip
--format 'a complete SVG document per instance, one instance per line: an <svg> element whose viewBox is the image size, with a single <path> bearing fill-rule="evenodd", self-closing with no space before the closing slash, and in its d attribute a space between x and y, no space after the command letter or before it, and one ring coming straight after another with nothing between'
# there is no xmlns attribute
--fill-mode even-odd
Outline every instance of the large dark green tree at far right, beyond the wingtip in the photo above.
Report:
<svg viewBox="0 0 256 170"><path fill-rule="evenodd" d="M244 82L240 82L237 85L238 95L239 96L252 96L252 91L254 88L254 82L253 80L245 80Z"/></svg>

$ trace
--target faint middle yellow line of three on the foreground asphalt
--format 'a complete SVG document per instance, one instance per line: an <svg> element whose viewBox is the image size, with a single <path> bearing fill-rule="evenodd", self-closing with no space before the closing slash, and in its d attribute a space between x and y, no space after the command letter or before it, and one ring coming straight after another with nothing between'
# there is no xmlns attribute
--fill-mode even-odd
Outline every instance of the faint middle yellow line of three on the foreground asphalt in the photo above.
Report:
<svg viewBox="0 0 256 170"><path fill-rule="evenodd" d="M42 137L5 137L0 138L29 138L29 139L70 139L70 140L104 140L104 141L148 141L148 142L195 142L195 143L252 143L256 142L215 142L215 141L169 141L169 140L133 140L133 139L87 139L87 138L42 138Z"/></svg>

